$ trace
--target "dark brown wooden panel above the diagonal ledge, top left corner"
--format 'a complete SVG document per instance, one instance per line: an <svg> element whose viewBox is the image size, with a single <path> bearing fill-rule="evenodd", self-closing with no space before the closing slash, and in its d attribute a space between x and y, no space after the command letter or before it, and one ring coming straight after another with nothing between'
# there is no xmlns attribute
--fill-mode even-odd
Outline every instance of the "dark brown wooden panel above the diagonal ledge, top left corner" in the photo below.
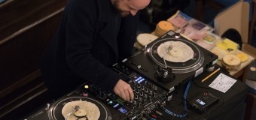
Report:
<svg viewBox="0 0 256 120"><path fill-rule="evenodd" d="M47 17L53 11L61 10L67 0L24 0L11 1L0 7L0 41L10 36L31 23L37 23L41 18ZM3 43L3 42L2 42Z"/></svg>

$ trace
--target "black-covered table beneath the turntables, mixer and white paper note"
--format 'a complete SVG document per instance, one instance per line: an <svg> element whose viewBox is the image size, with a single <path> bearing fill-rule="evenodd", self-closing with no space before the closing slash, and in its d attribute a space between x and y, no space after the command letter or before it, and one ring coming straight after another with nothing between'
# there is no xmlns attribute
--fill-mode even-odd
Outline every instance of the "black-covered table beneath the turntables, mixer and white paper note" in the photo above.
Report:
<svg viewBox="0 0 256 120"><path fill-rule="evenodd" d="M215 68L217 69L217 68ZM216 77L218 77L218 74L226 74L229 77L228 73L225 73L225 71L218 71L218 73L214 74L212 77L209 77L208 80L201 83L201 80L209 76L212 72L203 72L203 74L200 74L194 79L191 79L191 84L189 89L187 89L187 83L181 83L180 86L176 87L175 91L172 92L172 100L166 101L166 106L160 107L157 105L156 110L159 110L162 115L164 114L164 118L162 115L159 115L157 113L154 113L154 110L152 110L152 114L155 115L155 119L157 120L175 120L175 119L182 119L182 120L206 120L206 119L212 119L212 120L242 120L244 111L245 111L245 98L248 93L248 86L246 86L241 81L237 80L236 83L229 89L227 92L219 92L215 89L209 88L209 84L212 83L213 80L215 80ZM187 89L187 96L186 100L190 101L193 98L197 97L197 95L200 95L203 92L209 92L212 95L215 95L219 101L217 104L214 104L212 107L209 108L209 110L206 111L206 113L198 114L194 110L187 109L186 115L184 115L184 118L178 118L173 115L169 115L165 113L165 111L160 110L162 108L165 108L166 110L172 111L175 114L181 114L180 110L185 109L184 108L184 92L186 92ZM70 97L72 95L75 95L79 97L79 94L81 89L76 89L74 92L71 92L67 94L65 97ZM91 95L91 96L90 96ZM88 97L93 98L93 94L89 94ZM95 98L95 97L94 97ZM100 101L99 99L96 99ZM102 101L101 101L102 102ZM104 103L104 102L102 102ZM105 104L106 107L108 107L111 110L114 110L112 107L109 107L107 104ZM118 111L111 111L113 118L118 118L118 116L123 116L120 114L114 114ZM146 113L145 113L146 115ZM148 114L151 115L151 114ZM35 113L32 115L29 115L26 119L47 119L48 117L48 111L44 108L41 108L41 110L36 110ZM154 120L154 119L151 119Z"/></svg>

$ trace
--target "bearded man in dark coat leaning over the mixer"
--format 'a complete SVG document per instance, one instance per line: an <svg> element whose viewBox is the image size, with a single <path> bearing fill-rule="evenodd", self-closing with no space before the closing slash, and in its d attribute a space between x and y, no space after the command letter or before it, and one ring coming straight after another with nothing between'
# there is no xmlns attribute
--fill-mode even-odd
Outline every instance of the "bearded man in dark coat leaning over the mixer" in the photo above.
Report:
<svg viewBox="0 0 256 120"><path fill-rule="evenodd" d="M150 0L69 0L58 31L44 52L41 71L53 98L86 81L123 100L133 89L110 67L131 55L139 16Z"/></svg>

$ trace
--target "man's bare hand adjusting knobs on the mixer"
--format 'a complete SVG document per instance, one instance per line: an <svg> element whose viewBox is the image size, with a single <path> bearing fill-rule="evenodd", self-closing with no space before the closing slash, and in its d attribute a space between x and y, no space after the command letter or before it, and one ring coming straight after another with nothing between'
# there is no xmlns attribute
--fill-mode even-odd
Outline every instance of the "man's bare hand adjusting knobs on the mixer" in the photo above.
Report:
<svg viewBox="0 0 256 120"><path fill-rule="evenodd" d="M123 98L124 101L131 101L134 98L133 89L130 84L119 80L114 86L114 93L119 95L120 98Z"/></svg>

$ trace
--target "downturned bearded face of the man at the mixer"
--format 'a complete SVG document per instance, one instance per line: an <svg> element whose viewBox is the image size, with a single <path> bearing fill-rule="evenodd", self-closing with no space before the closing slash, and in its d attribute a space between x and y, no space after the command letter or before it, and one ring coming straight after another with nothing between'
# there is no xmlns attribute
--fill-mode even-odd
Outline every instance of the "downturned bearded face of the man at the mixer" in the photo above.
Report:
<svg viewBox="0 0 256 120"><path fill-rule="evenodd" d="M145 8L149 2L150 0L112 0L121 17L127 17L130 14L135 16L138 10Z"/></svg>

